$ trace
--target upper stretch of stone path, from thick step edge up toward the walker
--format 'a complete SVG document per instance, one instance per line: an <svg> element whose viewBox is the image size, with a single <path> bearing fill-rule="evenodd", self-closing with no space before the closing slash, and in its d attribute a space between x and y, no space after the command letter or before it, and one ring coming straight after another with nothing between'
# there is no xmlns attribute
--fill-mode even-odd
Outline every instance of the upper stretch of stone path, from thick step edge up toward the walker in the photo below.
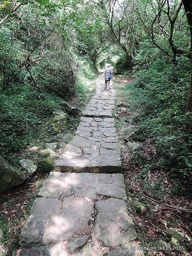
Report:
<svg viewBox="0 0 192 256"><path fill-rule="evenodd" d="M115 90L97 91L85 107L76 137L67 144L59 158L54 161L54 170L61 172L121 172L121 145L112 118Z"/></svg>

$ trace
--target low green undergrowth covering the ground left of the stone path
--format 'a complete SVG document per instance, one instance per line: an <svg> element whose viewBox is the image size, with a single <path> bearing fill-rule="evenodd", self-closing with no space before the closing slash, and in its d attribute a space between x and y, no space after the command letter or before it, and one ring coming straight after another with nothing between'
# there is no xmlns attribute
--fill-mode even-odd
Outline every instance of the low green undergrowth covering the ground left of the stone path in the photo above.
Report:
<svg viewBox="0 0 192 256"><path fill-rule="evenodd" d="M1 90L0 151L9 163L18 164L20 152L29 145L57 141L58 131L51 125L55 109L67 113L67 125L61 132L73 133L80 110L93 93L88 89L96 76L93 64L86 58L79 58L79 65L76 85L67 91L64 85L47 80L40 91L25 80Z"/></svg>

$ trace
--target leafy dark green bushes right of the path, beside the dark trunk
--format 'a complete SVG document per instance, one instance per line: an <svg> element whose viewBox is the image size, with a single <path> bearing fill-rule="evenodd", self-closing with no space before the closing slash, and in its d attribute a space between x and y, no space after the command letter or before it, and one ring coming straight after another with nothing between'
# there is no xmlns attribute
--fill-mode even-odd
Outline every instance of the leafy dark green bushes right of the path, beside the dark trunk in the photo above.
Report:
<svg viewBox="0 0 192 256"><path fill-rule="evenodd" d="M139 57L137 57L138 59ZM135 67L137 81L128 84L131 110L138 109L138 129L151 139L156 149L148 168L171 171L178 180L175 192L186 194L192 170L192 135L185 127L185 105L189 90L190 65L187 58L177 58L177 65L160 59L148 69ZM133 138L134 139L134 138ZM156 165L158 162L158 166ZM186 182L188 180L188 183Z"/></svg>

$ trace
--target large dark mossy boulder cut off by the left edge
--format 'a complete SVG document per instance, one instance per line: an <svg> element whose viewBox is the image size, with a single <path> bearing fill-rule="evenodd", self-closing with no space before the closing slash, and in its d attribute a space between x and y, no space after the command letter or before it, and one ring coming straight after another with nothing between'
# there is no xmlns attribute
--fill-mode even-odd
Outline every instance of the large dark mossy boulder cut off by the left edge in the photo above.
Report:
<svg viewBox="0 0 192 256"><path fill-rule="evenodd" d="M11 186L17 186L25 181L25 175L20 169L10 166L3 157L0 157L0 192Z"/></svg>

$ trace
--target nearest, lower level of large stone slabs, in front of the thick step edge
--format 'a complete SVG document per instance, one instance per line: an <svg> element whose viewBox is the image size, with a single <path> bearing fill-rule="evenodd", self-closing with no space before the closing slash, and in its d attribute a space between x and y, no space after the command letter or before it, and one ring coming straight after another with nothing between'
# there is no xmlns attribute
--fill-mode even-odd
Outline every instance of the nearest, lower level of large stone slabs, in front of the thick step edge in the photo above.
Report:
<svg viewBox="0 0 192 256"><path fill-rule="evenodd" d="M51 172L38 196L20 234L20 256L77 256L82 247L83 255L103 255L102 247L136 238L122 174Z"/></svg>

